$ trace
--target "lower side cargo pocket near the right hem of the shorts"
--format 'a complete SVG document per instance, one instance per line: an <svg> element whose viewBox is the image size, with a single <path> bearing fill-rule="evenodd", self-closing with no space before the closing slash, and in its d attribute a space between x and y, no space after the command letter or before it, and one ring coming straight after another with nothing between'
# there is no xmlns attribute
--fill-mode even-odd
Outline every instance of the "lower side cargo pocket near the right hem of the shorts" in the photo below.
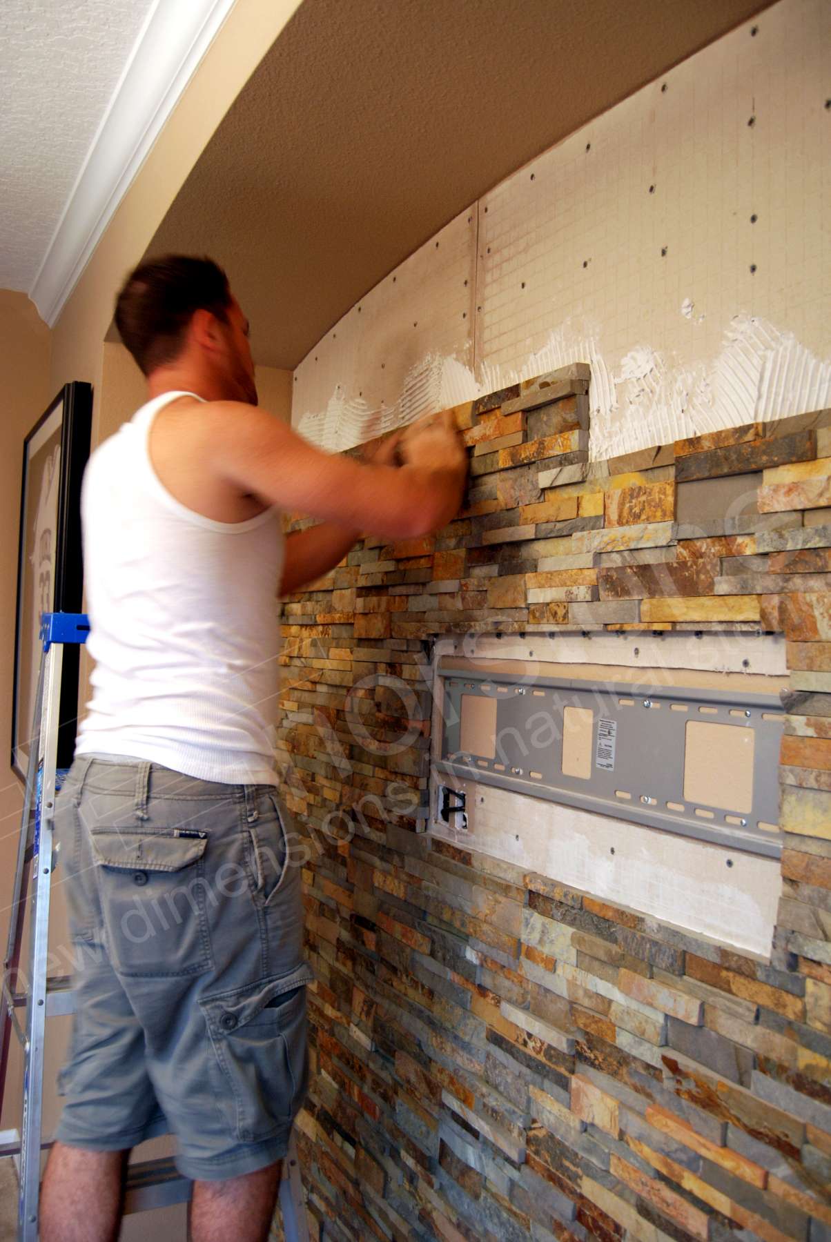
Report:
<svg viewBox="0 0 831 1242"><path fill-rule="evenodd" d="M242 1143L291 1125L306 1097L309 1064L302 966L200 1001L211 1037L216 1102Z"/></svg>

